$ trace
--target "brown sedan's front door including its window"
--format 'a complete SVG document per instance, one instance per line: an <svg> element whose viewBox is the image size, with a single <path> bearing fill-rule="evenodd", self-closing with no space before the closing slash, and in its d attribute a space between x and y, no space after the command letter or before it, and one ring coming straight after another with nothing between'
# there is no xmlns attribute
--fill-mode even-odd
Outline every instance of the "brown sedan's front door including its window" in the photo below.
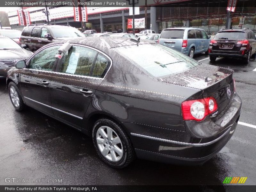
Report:
<svg viewBox="0 0 256 192"><path fill-rule="evenodd" d="M59 48L60 45L55 45L37 52L20 74L20 90L25 103L50 116L53 116L50 86Z"/></svg>

